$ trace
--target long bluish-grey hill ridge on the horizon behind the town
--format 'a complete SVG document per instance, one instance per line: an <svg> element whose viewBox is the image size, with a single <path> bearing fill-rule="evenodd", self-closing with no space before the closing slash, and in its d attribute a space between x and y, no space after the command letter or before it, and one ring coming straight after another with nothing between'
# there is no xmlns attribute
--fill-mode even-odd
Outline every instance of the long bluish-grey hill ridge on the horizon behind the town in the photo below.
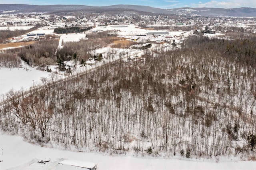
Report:
<svg viewBox="0 0 256 170"><path fill-rule="evenodd" d="M82 11L90 12L119 12L120 9L130 11L141 11L158 14L178 14L193 16L256 16L256 8L174 8L161 9L150 6L138 5L112 5L112 6L85 6L85 5L25 5L25 4L0 4L0 14L8 13L30 13L30 12L64 12L64 11Z"/></svg>

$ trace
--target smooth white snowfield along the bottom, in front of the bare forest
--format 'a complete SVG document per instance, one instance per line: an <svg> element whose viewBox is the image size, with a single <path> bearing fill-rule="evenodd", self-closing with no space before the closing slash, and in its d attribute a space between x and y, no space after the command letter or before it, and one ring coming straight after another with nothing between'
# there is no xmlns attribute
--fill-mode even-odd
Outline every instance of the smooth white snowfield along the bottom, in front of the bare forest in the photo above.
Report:
<svg viewBox="0 0 256 170"><path fill-rule="evenodd" d="M98 170L255 170L255 161L215 162L175 158L147 158L136 156L111 156L88 152L74 152L45 148L24 142L20 136L0 134L0 169L22 166L32 159L65 158L95 162Z"/></svg>

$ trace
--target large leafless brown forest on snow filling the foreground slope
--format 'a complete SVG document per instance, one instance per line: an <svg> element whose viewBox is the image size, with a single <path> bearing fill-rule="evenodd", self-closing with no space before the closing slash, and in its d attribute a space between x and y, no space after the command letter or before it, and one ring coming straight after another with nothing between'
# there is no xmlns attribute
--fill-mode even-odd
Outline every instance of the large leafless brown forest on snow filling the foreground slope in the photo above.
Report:
<svg viewBox="0 0 256 170"><path fill-rule="evenodd" d="M10 91L0 125L80 150L254 154L255 55L254 36L194 36L174 51L156 46L145 61L108 63L30 95Z"/></svg>

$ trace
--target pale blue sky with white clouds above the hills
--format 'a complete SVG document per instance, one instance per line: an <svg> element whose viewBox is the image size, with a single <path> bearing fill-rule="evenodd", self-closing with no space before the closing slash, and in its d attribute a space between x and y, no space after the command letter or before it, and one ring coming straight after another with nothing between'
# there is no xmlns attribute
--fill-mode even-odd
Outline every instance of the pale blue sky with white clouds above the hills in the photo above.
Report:
<svg viewBox="0 0 256 170"><path fill-rule="evenodd" d="M256 8L256 0L0 0L0 4L75 4L108 6L117 4L144 5L155 8L209 7L209 8Z"/></svg>

